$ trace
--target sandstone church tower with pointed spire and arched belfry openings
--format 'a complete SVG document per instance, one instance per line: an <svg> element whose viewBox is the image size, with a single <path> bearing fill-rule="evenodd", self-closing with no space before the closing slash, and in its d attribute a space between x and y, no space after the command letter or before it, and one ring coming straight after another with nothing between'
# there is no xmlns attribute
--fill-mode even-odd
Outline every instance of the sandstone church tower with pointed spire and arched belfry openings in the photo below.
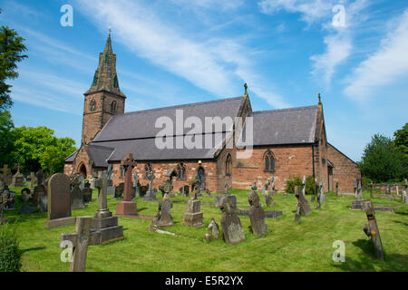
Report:
<svg viewBox="0 0 408 290"><path fill-rule="evenodd" d="M82 144L88 144L115 114L124 112L126 96L119 88L116 73L116 54L112 51L111 33L99 65L93 76L91 88L84 93Z"/></svg>

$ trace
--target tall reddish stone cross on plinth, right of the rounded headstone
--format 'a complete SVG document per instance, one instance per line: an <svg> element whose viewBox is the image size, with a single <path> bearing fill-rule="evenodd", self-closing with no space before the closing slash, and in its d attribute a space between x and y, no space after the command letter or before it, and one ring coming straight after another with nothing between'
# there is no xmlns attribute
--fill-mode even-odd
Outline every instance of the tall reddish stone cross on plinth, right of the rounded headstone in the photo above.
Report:
<svg viewBox="0 0 408 290"><path fill-rule="evenodd" d="M136 167L136 164L131 153L126 154L125 158L121 160L121 166L125 170L125 179L123 185L123 201L116 207L116 216L138 216L137 205L131 201L131 171Z"/></svg>

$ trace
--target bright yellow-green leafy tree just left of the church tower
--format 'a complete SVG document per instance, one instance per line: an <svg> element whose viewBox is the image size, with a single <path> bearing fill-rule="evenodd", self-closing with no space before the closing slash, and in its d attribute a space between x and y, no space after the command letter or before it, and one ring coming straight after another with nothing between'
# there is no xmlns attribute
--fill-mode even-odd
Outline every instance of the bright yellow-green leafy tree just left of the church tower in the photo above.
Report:
<svg viewBox="0 0 408 290"><path fill-rule="evenodd" d="M47 174L63 172L63 159L73 153L75 141L71 138L56 138L53 130L46 127L19 127L13 131L15 150L11 152L15 163L24 166L24 171L41 168Z"/></svg>

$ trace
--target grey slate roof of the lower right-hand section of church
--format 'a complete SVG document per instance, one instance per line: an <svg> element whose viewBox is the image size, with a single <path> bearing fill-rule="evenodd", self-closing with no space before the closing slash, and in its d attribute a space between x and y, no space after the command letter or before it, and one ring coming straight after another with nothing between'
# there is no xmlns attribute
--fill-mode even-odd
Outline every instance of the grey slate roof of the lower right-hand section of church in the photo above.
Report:
<svg viewBox="0 0 408 290"><path fill-rule="evenodd" d="M314 143L317 106L253 111L254 146Z"/></svg>

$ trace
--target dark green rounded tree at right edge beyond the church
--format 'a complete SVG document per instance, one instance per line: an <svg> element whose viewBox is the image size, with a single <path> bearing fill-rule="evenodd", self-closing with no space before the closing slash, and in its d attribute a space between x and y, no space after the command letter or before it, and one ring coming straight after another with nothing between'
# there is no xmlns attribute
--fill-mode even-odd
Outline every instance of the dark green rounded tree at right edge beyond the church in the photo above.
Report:
<svg viewBox="0 0 408 290"><path fill-rule="evenodd" d="M393 140L375 134L364 148L359 167L364 177L374 182L399 181L408 173L408 160Z"/></svg>

